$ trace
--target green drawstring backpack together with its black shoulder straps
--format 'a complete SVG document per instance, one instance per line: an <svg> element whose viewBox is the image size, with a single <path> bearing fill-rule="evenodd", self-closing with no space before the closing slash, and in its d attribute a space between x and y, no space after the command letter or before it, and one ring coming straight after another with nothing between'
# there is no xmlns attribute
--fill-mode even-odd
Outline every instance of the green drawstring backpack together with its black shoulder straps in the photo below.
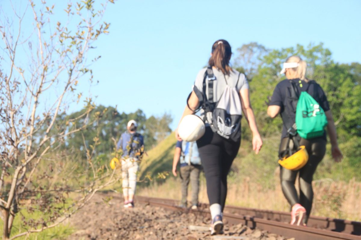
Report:
<svg viewBox="0 0 361 240"><path fill-rule="evenodd" d="M317 95L317 83L309 81L307 89L305 91L301 91L300 94L298 94L298 89L295 86L295 83L290 80L290 84L291 88L290 95L288 96L288 103L290 103L290 109L292 109L293 113L295 113L296 121L293 126L286 125L288 132L291 134L292 132L297 131L299 136L304 139L312 139L322 136L325 132L324 128L327 125L325 111L307 92L309 87L313 86L314 92ZM290 125L290 122L290 119L288 119L288 125Z"/></svg>

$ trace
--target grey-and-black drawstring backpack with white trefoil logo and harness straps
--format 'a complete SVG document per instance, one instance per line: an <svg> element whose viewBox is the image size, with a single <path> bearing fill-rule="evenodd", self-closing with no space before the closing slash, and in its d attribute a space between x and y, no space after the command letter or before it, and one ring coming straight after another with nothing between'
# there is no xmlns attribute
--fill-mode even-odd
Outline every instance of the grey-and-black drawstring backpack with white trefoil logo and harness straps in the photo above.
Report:
<svg viewBox="0 0 361 240"><path fill-rule="evenodd" d="M204 110L203 121L208 120L213 132L233 141L239 141L241 137L242 105L236 89L240 74L235 86L229 86L225 76L224 81L227 86L218 102L214 102L213 99L213 81L217 79L213 74L212 67L207 68L203 78L203 102L201 104L201 108Z"/></svg>

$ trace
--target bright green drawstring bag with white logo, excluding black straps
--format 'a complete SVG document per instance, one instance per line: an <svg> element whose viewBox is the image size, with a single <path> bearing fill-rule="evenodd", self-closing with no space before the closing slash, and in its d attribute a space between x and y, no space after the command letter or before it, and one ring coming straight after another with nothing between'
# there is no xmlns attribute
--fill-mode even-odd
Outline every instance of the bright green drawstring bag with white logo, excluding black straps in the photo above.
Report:
<svg viewBox="0 0 361 240"><path fill-rule="evenodd" d="M296 107L297 133L304 139L320 137L326 125L325 111L306 91L301 92Z"/></svg>

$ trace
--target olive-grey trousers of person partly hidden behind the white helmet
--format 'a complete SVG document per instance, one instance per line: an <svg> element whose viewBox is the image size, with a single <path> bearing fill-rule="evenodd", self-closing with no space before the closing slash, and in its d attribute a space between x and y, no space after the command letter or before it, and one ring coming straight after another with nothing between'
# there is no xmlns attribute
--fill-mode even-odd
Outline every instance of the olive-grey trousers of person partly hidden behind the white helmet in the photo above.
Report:
<svg viewBox="0 0 361 240"><path fill-rule="evenodd" d="M181 167L182 178L182 204L187 206L188 184L191 181L192 188L192 205L198 205L199 193L199 174L201 172L200 165L187 165Z"/></svg>

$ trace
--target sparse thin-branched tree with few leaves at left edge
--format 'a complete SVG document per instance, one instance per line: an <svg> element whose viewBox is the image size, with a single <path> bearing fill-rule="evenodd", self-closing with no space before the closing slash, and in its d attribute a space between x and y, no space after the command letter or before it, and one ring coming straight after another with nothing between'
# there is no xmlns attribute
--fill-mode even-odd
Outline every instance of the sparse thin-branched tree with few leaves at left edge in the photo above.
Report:
<svg viewBox="0 0 361 240"><path fill-rule="evenodd" d="M31 208L49 210L52 216L29 221L27 232L11 239L61 223L104 186L106 176L113 176L112 173L104 175L104 166L97 165L94 158L98 137L93 137L87 149L92 178L83 186L82 183L77 185L83 196L73 206L64 204L64 193L71 182L67 177L72 175L62 177L60 184L56 184L59 176L52 171L54 168L69 170L62 160L71 158L71 153L55 151L64 139L99 121L98 117L89 121L95 107L91 99L84 101L84 110L78 116L67 119L62 116L74 99L78 82L86 80L85 77L92 81L92 70L88 67L100 56L89 60L87 53L100 35L108 33L110 24L100 21L105 6L99 5L98 11L94 0L69 3L66 9L58 9L66 13L68 19L64 22L54 22L55 5L48 6L45 1L35 5L30 0L23 12L13 8L13 13L6 12L8 15L1 9L3 41L0 47L4 54L0 59L0 216L4 222L3 239L10 238L13 220L23 199L36 200ZM27 14L34 17L30 20ZM82 99L81 93L77 99ZM100 116L102 113L93 114ZM59 119L64 121L56 121ZM79 119L83 119L82 124L68 128ZM44 130L43 134L36 135L40 130ZM45 162L48 158L53 159L54 166ZM42 166L49 168L41 173ZM81 178L82 175L77 175L81 171L77 172L76 167L71 169L74 178ZM105 184L114 181L110 178ZM63 207L59 207L60 203Z"/></svg>

